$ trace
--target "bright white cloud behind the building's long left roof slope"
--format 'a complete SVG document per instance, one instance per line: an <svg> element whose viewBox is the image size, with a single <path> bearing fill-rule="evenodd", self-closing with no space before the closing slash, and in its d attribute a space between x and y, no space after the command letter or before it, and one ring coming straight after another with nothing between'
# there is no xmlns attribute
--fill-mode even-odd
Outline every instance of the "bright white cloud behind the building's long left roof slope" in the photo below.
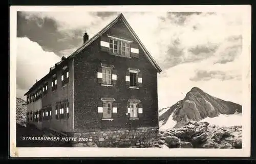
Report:
<svg viewBox="0 0 256 164"><path fill-rule="evenodd" d="M53 52L42 50L38 43L26 37L17 38L17 97L23 97L36 80L47 75L50 67L60 60Z"/></svg>

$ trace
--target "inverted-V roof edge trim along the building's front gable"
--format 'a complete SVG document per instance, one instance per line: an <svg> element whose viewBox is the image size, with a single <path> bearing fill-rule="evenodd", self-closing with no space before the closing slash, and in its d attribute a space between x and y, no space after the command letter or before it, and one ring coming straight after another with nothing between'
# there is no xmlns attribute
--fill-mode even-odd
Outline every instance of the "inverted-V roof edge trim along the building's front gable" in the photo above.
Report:
<svg viewBox="0 0 256 164"><path fill-rule="evenodd" d="M74 53L72 53L68 59L73 58L75 55L77 55L79 52L81 52L83 49L85 49L87 46L89 46L93 41L95 41L97 38L99 38L104 32L109 30L112 26L116 24L118 20L122 20L124 25L129 29L129 31L132 33L136 41L139 43L140 48L143 50L144 54L146 55L146 58L151 62L151 64L156 68L157 72L162 72L162 69L158 66L156 61L153 59L153 57L150 55L150 53L146 50L143 43L140 41L137 34L133 31L132 27L129 25L123 14L119 14L113 21L110 22L110 24L106 25L101 31L99 31L96 35L94 35L91 39L86 41L80 48L78 48Z"/></svg>

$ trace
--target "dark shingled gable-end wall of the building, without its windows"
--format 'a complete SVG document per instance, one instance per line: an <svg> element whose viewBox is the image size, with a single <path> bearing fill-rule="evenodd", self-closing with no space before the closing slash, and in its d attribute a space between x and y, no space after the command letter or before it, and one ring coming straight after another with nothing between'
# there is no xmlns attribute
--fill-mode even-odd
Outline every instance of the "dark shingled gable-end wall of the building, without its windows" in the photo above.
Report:
<svg viewBox="0 0 256 164"><path fill-rule="evenodd" d="M106 34L135 42L135 38L121 21L106 31ZM108 87L98 83L97 70L101 63L114 65L117 71L116 85ZM137 68L142 73L142 86L139 89L126 86L125 74L129 67ZM112 121L99 118L97 107L103 97L116 100L117 113ZM129 99L141 101L143 113L138 120L127 119L125 115ZM147 60L143 50L139 49L138 58L110 55L100 50L98 38L81 51L74 58L74 112L75 131L158 127L157 71Z"/></svg>

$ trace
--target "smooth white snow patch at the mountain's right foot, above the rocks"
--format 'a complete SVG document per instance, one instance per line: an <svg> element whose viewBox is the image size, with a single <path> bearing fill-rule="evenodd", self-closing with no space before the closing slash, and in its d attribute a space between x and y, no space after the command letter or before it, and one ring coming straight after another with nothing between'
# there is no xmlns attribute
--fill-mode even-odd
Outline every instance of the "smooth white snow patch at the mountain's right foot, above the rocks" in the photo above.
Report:
<svg viewBox="0 0 256 164"><path fill-rule="evenodd" d="M242 113L220 114L215 118L205 118L200 122L208 122L210 125L216 126L242 126Z"/></svg>

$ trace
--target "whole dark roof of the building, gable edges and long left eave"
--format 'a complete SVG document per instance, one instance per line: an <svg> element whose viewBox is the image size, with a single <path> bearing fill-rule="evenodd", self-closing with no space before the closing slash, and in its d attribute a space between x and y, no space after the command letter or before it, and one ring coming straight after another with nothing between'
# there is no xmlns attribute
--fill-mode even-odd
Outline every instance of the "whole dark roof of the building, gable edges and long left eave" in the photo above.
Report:
<svg viewBox="0 0 256 164"><path fill-rule="evenodd" d="M50 72L43 78L41 78L39 81L37 81L30 89L25 93L24 96L27 95L30 91L34 90L36 87L38 87L42 81L44 81L46 78L48 78L51 75L51 72L56 68L57 65L59 65L62 61L70 60L74 58L79 52L81 52L83 49L85 49L87 46L89 46L93 41L95 41L97 38L99 38L104 32L109 30L113 25L116 24L118 20L122 20L124 22L124 25L129 29L129 31L132 33L136 41L139 43L141 49L143 50L146 58L151 62L151 64L155 67L156 71L158 73L162 72L162 69L159 67L159 65L156 63L156 61L153 59L153 57L150 55L150 53L146 50L145 46L140 41L137 34L133 31L132 27L129 25L123 14L119 14L114 20L112 20L108 25L106 25L101 31L99 31L96 35L94 35L92 38L87 40L80 48L78 48L74 53L72 53L69 57L62 59L61 61L57 62L53 67L50 68Z"/></svg>

